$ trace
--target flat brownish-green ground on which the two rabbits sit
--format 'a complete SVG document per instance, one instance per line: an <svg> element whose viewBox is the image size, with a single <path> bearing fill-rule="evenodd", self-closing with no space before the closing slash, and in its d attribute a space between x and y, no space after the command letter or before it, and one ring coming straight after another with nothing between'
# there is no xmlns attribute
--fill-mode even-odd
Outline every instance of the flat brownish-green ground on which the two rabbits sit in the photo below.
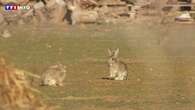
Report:
<svg viewBox="0 0 195 110"><path fill-rule="evenodd" d="M68 67L63 87L32 84L57 110L194 110L195 26L107 24L9 27L0 55L18 68L41 74L61 62ZM127 81L108 75L107 48L120 48Z"/></svg>

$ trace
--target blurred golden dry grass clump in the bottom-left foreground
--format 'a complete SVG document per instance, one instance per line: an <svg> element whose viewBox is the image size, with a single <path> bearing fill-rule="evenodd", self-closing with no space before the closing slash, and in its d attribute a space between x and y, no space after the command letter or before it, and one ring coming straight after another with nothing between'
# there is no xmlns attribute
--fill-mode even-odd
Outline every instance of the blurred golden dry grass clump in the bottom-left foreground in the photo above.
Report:
<svg viewBox="0 0 195 110"><path fill-rule="evenodd" d="M6 66L0 59L0 109L1 110L49 110L32 93L25 79L17 77L14 68Z"/></svg>

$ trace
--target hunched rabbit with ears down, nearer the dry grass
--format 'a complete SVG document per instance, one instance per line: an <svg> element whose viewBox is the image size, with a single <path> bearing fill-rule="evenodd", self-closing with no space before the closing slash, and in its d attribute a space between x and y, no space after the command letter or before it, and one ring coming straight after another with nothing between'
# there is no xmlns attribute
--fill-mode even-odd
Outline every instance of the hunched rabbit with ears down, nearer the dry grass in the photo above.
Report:
<svg viewBox="0 0 195 110"><path fill-rule="evenodd" d="M65 77L66 66L62 64L52 65L42 74L41 85L62 86Z"/></svg>

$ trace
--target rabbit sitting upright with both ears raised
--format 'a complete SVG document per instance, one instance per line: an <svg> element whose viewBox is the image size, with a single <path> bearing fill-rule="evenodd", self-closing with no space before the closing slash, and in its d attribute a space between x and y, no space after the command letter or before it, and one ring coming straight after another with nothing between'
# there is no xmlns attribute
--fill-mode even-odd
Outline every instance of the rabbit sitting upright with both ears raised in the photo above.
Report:
<svg viewBox="0 0 195 110"><path fill-rule="evenodd" d="M114 80L127 80L128 76L127 65L121 62L118 58L119 48L117 48L114 51L108 49L108 53L110 78L113 78Z"/></svg>

